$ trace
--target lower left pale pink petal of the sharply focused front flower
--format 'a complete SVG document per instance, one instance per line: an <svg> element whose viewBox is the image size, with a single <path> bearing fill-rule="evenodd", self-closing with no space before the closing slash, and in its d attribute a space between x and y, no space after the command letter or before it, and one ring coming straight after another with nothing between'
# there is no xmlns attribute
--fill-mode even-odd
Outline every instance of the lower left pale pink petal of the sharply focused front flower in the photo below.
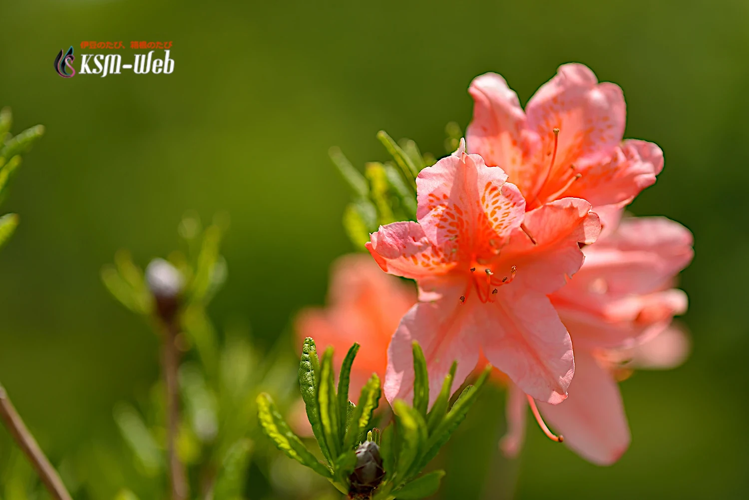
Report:
<svg viewBox="0 0 749 500"><path fill-rule="evenodd" d="M465 283L456 280L441 290L443 298L432 302L419 302L403 316L398 330L392 336L387 351L387 373L383 385L385 397L392 403L396 398L413 398L413 351L416 340L424 351L429 373L429 399L437 398L443 380L458 361L455 386L476 367L479 345L476 340L476 307L479 301L458 300L464 293Z"/></svg>

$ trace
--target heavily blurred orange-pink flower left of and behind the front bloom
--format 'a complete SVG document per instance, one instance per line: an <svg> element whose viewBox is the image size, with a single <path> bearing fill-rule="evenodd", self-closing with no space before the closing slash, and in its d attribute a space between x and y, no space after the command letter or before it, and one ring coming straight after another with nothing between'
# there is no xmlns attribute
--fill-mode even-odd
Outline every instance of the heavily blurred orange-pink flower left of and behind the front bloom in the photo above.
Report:
<svg viewBox="0 0 749 500"><path fill-rule="evenodd" d="M333 346L336 370L340 370L348 349L360 343L349 386L351 399L356 401L372 373L380 379L385 375L392 332L416 302L416 292L398 278L384 274L367 255L340 257L330 274L328 307L302 310L295 330L300 345L305 337L312 337L320 353Z"/></svg>

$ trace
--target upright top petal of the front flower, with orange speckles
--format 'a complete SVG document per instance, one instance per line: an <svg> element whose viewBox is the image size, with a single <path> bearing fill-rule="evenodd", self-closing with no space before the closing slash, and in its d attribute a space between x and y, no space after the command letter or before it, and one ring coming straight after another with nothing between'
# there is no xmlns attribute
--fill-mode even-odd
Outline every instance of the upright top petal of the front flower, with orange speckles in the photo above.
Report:
<svg viewBox="0 0 749 500"><path fill-rule="evenodd" d="M429 241L458 259L497 253L525 214L525 199L506 180L502 169L466 154L463 141L453 154L422 169L416 216Z"/></svg>

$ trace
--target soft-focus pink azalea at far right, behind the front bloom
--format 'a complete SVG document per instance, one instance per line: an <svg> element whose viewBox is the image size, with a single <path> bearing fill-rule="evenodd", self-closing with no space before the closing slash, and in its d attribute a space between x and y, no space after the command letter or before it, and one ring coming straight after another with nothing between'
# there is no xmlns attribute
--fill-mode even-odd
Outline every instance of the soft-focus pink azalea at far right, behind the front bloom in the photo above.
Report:
<svg viewBox="0 0 749 500"><path fill-rule="evenodd" d="M604 212L602 212L604 213ZM616 217L614 217L616 218ZM530 403L542 429L541 414L564 442L599 465L616 462L630 442L616 384L623 370L666 368L684 361L688 339L671 325L687 308L674 278L691 261L692 235L664 217L625 218L590 247L580 271L551 301L574 344L575 376L562 404L536 403L511 385L508 396L509 455L521 448L525 408Z"/></svg>

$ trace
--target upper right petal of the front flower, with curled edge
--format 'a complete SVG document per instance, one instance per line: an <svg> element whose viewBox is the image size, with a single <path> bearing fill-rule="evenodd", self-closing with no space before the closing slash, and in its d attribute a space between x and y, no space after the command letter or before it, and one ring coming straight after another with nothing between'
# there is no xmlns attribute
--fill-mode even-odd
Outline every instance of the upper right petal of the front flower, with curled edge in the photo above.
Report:
<svg viewBox="0 0 749 500"><path fill-rule="evenodd" d="M514 265L516 280L544 294L564 286L583 265L579 243L592 243L601 231L590 208L584 199L563 198L527 212L525 229L515 229L500 255L500 268Z"/></svg>

